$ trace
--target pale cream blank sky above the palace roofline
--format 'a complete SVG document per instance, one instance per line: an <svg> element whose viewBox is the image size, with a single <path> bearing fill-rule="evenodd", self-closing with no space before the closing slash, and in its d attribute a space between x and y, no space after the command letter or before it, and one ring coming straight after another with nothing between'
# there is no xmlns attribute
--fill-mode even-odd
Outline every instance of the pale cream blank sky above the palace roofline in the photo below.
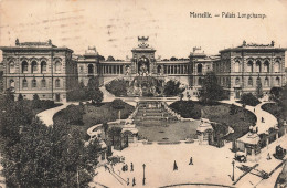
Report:
<svg viewBox="0 0 287 188"><path fill-rule="evenodd" d="M190 18L210 12L213 18ZM222 12L266 14L222 18ZM215 18L214 14L220 14ZM188 58L247 43L287 48L287 0L0 0L0 45L52 40L83 54L96 46L115 59L131 56L138 36L149 36L156 58Z"/></svg>

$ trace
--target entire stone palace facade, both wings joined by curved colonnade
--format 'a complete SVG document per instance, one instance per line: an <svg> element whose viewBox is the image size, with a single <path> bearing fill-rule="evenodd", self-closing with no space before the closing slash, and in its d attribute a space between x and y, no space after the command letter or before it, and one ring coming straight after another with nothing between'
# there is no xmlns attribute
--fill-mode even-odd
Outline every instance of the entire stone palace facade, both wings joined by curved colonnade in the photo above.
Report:
<svg viewBox="0 0 287 188"><path fill-rule="evenodd" d="M177 80L198 95L204 75L213 71L219 83L228 91L231 98L243 93L254 93L258 82L264 93L285 84L285 51L274 42L267 45L246 44L224 49L220 55L206 55L193 48L188 59L161 60L148 44L148 38L138 38L138 46L131 58L124 61L104 60L96 48L88 48L83 55L72 55L67 48L57 48L47 42L15 41L15 46L1 46L3 51L3 88L12 88L15 96L32 98L38 94L43 100L65 101L66 93L89 77L97 76L100 85L114 79L156 76Z"/></svg>

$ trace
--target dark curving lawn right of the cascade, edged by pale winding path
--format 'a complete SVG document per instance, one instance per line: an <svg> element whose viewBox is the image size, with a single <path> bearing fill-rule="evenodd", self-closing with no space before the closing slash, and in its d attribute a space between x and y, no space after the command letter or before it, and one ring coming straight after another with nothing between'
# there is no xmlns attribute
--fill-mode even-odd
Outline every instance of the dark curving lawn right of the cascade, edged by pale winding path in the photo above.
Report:
<svg viewBox="0 0 287 188"><path fill-rule="evenodd" d="M232 127L234 133L225 137L226 139L232 140L245 135L248 132L249 126L255 125L256 116L238 106L235 106L236 113L231 115L230 106L231 105L228 104L221 103L204 105L192 101L178 101L170 105L170 107L181 114L182 117L195 119L203 117L211 122Z"/></svg>

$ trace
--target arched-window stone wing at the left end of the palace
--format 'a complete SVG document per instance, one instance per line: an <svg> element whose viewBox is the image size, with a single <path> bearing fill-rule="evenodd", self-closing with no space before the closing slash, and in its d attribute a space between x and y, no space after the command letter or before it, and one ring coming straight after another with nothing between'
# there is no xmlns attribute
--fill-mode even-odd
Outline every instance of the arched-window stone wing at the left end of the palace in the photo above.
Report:
<svg viewBox="0 0 287 188"><path fill-rule="evenodd" d="M66 101L66 93L76 85L76 61L73 51L47 42L23 42L15 46L1 46L3 54L3 87L11 88L15 97Z"/></svg>

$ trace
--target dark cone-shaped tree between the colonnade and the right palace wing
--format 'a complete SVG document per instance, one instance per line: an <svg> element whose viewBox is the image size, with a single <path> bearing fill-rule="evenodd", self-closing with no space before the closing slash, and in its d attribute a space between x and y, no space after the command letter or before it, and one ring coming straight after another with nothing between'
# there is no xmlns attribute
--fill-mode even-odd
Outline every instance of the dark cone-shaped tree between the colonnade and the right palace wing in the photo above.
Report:
<svg viewBox="0 0 287 188"><path fill-rule="evenodd" d="M216 75L213 72L206 73L203 85L199 92L199 100L204 104L212 104L225 97L225 92L222 86L219 85Z"/></svg>

